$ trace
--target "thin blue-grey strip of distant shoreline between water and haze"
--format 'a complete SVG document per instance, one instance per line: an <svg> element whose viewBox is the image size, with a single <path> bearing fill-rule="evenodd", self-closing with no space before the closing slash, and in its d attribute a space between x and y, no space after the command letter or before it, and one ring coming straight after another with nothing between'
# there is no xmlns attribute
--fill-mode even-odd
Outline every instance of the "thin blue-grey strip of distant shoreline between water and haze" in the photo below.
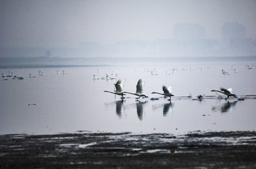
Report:
<svg viewBox="0 0 256 169"><path fill-rule="evenodd" d="M11 57L0 58L0 69L109 66L116 64L145 64L166 62L256 62L247 57Z"/></svg>

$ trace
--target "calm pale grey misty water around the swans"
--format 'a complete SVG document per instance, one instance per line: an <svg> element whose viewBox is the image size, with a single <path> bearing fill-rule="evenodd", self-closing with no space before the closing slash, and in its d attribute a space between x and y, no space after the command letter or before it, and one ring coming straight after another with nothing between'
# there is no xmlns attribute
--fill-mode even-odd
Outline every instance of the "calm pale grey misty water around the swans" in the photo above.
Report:
<svg viewBox="0 0 256 169"><path fill-rule="evenodd" d="M255 95L256 69L252 64L256 65L254 61L159 62L0 69L1 74L13 72L24 77L0 81L0 134L255 131L256 99L206 97L217 96L211 90L220 87L233 88L236 95ZM222 74L222 69L229 74ZM45 75L39 76L39 70ZM100 79L94 80L93 74ZM106 74L117 74L117 79L101 79ZM114 91L119 78L126 79L124 91L132 93L142 78L149 98L136 100L137 96L127 94L122 100L120 95L105 93ZM163 85L172 86L175 97L171 102L151 94L163 93ZM179 97L188 95L192 98ZM197 95L205 98L198 100Z"/></svg>

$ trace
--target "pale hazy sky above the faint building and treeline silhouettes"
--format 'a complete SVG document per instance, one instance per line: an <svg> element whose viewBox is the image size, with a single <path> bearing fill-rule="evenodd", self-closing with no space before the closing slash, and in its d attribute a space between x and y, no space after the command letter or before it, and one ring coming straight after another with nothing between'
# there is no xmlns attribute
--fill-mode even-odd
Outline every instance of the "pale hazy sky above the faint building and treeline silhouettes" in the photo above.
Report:
<svg viewBox="0 0 256 169"><path fill-rule="evenodd" d="M255 9L255 0L1 0L0 47L168 39L175 23L198 23L219 38L225 22L236 22L256 38Z"/></svg>

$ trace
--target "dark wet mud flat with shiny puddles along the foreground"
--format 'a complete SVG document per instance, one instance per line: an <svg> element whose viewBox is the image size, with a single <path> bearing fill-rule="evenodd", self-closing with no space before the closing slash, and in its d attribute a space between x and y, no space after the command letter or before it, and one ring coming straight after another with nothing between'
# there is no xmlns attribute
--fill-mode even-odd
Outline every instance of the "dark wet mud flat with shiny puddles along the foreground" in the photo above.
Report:
<svg viewBox="0 0 256 169"><path fill-rule="evenodd" d="M256 132L0 136L0 168L256 168Z"/></svg>

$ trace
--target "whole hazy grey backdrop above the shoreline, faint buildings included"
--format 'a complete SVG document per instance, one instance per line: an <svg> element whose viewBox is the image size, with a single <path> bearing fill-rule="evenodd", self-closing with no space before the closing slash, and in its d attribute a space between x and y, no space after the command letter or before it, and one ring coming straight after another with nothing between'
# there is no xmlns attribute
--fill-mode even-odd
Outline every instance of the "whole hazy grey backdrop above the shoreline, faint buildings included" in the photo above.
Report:
<svg viewBox="0 0 256 169"><path fill-rule="evenodd" d="M0 1L0 57L255 56L255 0Z"/></svg>

